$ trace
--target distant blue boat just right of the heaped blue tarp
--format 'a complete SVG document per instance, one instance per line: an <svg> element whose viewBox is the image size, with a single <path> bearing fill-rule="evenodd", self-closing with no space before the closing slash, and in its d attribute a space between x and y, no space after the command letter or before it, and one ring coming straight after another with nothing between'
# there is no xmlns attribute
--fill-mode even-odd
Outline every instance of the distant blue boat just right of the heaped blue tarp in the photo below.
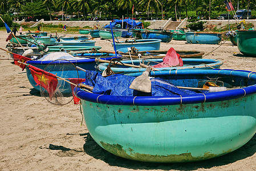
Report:
<svg viewBox="0 0 256 171"><path fill-rule="evenodd" d="M141 31L142 39L161 39L162 42L170 42L173 38L173 32L169 30L144 30Z"/></svg>

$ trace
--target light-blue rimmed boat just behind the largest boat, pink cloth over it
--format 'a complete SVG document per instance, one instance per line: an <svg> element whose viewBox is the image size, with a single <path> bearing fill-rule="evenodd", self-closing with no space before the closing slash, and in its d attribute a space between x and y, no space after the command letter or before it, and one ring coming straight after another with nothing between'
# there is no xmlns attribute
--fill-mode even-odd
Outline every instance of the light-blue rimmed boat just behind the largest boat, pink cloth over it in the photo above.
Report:
<svg viewBox="0 0 256 171"><path fill-rule="evenodd" d="M205 69L209 70L212 68L220 68L222 64L224 64L221 60L215 60L215 59L182 59L183 60L183 66L177 66L177 67L165 67L165 68L156 68L160 71L169 71L169 70L188 70L188 69ZM159 64L162 62L162 59L136 59L136 60L122 60L121 61L124 64L133 64L135 66L140 66L140 63L149 63L149 65L154 66L156 64ZM132 63L133 62L133 63ZM97 69L103 72L108 67L108 63L100 63L97 66ZM122 74L130 74L134 72L144 72L146 68L133 68L133 67L127 67L127 66L112 66L111 70L115 73L122 72Z"/></svg>

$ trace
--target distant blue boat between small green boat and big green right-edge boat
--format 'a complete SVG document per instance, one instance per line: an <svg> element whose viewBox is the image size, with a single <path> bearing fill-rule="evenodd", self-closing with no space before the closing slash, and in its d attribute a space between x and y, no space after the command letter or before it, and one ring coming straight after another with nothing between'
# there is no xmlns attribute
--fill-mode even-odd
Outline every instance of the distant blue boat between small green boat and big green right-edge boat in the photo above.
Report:
<svg viewBox="0 0 256 171"><path fill-rule="evenodd" d="M220 44L220 32L186 32L186 42L192 44Z"/></svg>

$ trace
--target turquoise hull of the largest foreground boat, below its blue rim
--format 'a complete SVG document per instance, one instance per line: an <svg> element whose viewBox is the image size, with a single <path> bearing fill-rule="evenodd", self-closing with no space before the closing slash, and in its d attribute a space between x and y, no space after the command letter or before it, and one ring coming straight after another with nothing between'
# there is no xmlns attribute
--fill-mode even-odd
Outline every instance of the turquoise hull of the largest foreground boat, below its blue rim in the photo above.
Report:
<svg viewBox="0 0 256 171"><path fill-rule="evenodd" d="M255 95L211 103L109 105L82 100L97 144L147 162L206 160L238 149L256 132ZM122 111L122 112L119 112Z"/></svg>

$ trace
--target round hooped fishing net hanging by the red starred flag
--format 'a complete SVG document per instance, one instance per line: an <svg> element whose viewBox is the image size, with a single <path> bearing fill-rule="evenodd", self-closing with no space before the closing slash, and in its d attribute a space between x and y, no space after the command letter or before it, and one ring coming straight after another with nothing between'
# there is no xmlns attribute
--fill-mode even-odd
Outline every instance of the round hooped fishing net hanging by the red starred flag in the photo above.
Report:
<svg viewBox="0 0 256 171"><path fill-rule="evenodd" d="M47 78L48 72L56 75L58 83ZM52 104L65 105L74 99L72 89L79 83L78 70L69 60L54 60L44 68L40 82L41 96Z"/></svg>

